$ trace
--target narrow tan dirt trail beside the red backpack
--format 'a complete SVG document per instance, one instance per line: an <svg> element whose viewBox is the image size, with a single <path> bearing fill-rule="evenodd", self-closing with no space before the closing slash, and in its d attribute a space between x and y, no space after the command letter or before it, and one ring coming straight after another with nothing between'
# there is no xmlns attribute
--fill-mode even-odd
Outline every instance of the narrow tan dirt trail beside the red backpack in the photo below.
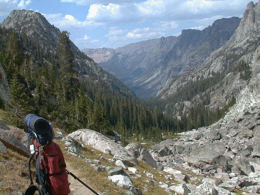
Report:
<svg viewBox="0 0 260 195"><path fill-rule="evenodd" d="M66 164L67 164L68 171L72 172L75 176L77 176L80 180L82 180L85 184L88 185L88 182L86 181L86 179L81 176L80 171L75 170L71 166L70 162L67 161ZM83 186L78 180L74 179L71 175L68 176L68 180L70 183L69 195L95 195L92 191L90 191L87 187ZM89 187L92 188L92 186L89 186ZM95 189L93 189L93 190L95 190Z"/></svg>

